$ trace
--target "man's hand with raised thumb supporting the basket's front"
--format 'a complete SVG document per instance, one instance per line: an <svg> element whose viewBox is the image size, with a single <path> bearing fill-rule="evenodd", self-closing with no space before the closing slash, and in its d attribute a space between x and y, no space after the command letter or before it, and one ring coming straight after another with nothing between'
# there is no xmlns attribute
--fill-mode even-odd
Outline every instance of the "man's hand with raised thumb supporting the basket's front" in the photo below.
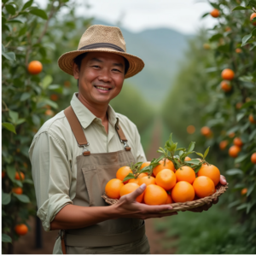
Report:
<svg viewBox="0 0 256 256"><path fill-rule="evenodd" d="M116 218L161 218L165 216L177 215L177 212L160 213L163 211L172 210L170 205L148 206L146 204L138 203L136 198L143 194L146 189L146 184L141 185L131 194L123 195L119 202L112 207L115 208Z"/></svg>

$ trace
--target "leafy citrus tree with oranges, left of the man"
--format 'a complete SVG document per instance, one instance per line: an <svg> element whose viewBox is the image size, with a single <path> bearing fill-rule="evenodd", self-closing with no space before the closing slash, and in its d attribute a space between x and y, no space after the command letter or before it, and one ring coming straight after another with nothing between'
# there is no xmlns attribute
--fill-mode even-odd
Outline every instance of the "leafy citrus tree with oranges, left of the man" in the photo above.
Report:
<svg viewBox="0 0 256 256"><path fill-rule="evenodd" d="M68 105L76 84L56 61L61 45L72 48L78 39L72 1L49 0L40 9L33 0L3 0L2 11L2 241L3 252L12 253L12 241L26 234L37 210L28 149L39 127ZM83 19L79 27L89 24Z"/></svg>

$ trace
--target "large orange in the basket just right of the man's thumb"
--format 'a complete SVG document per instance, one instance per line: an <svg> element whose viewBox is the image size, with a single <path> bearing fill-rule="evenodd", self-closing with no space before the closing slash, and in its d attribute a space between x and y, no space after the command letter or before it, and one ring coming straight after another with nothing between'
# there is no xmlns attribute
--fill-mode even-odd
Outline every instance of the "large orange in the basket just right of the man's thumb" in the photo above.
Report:
<svg viewBox="0 0 256 256"><path fill-rule="evenodd" d="M158 185L148 185L144 192L144 202L147 205L164 205L167 201L167 192Z"/></svg>

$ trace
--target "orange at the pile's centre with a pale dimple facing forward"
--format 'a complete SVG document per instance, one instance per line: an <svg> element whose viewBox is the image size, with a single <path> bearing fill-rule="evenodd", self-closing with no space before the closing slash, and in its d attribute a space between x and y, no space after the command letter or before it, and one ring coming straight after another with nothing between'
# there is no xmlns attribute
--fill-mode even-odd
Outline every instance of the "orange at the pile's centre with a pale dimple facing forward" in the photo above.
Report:
<svg viewBox="0 0 256 256"><path fill-rule="evenodd" d="M172 189L177 181L175 173L169 169L164 169L157 173L155 177L155 183L163 189Z"/></svg>

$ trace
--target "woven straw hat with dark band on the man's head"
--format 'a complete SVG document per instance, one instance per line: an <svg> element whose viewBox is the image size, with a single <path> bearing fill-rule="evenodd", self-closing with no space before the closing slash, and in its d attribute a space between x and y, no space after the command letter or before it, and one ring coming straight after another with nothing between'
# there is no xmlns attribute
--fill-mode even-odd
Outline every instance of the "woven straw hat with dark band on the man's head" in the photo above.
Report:
<svg viewBox="0 0 256 256"><path fill-rule="evenodd" d="M126 53L125 39L119 27L103 25L90 26L82 35L78 49L61 55L58 60L59 67L73 75L73 59L84 52L91 51L110 52L125 57L130 64L125 79L139 73L144 67L142 59Z"/></svg>

